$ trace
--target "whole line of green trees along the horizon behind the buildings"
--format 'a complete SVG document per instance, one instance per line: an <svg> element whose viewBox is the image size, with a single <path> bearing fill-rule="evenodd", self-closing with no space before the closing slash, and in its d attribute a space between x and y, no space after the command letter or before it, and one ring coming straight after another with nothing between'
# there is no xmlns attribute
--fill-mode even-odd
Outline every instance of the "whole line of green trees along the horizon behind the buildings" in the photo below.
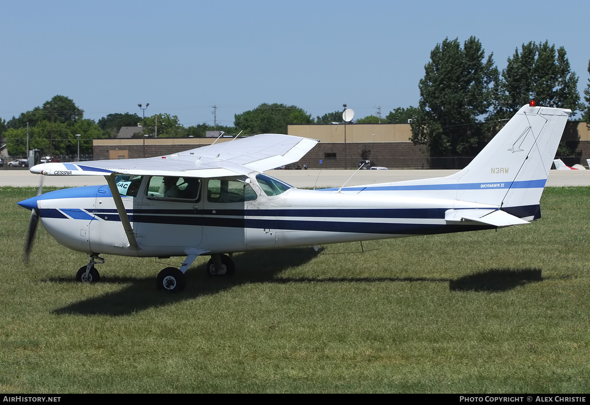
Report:
<svg viewBox="0 0 590 405"><path fill-rule="evenodd" d="M430 53L419 81L417 107L398 107L385 117L369 115L356 123L407 123L411 120L412 142L428 146L431 156L470 156L489 141L493 133L524 104L564 107L582 113L590 128L590 79L584 103L578 93L578 76L571 70L565 48L529 42L517 47L507 66L499 70L493 54L487 55L480 41L470 37L461 44L445 38ZM590 74L590 61L588 62ZM137 136L204 137L209 130L235 135L287 133L292 124L342 122L342 110L313 118L305 110L287 104L260 104L234 116L234 126L202 123L185 128L178 117L158 114L113 113L98 122L84 119L84 111L68 97L57 95L31 111L6 121L0 118L0 139L8 153L24 156L27 132L30 149L45 154L92 153L92 139L115 138L123 126L143 126Z"/></svg>

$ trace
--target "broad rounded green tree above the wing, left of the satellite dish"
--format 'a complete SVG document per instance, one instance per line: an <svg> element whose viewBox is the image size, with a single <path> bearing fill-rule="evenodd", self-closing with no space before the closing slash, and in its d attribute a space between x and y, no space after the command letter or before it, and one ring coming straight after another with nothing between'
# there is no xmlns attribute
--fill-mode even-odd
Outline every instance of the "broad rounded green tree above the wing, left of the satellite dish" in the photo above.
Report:
<svg viewBox="0 0 590 405"><path fill-rule="evenodd" d="M234 116L234 126L244 135L257 133L287 133L289 124L311 124L312 116L297 106L263 103L254 110Z"/></svg>

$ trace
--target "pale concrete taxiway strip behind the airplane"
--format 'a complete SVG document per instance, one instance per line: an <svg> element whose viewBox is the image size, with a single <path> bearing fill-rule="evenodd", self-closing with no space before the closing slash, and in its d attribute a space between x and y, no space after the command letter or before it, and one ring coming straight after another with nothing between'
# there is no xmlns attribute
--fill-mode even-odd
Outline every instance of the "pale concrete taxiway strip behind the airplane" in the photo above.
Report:
<svg viewBox="0 0 590 405"><path fill-rule="evenodd" d="M340 187L341 185L376 184L418 178L444 177L456 170L269 170L270 176L300 188ZM353 175L354 174L354 175ZM350 176L352 176L351 179ZM348 182L347 182L348 180ZM40 175L26 169L0 168L0 186L37 187ZM102 176L43 176L43 185L55 187L79 187L106 184ZM552 170L547 185L590 186L590 170Z"/></svg>

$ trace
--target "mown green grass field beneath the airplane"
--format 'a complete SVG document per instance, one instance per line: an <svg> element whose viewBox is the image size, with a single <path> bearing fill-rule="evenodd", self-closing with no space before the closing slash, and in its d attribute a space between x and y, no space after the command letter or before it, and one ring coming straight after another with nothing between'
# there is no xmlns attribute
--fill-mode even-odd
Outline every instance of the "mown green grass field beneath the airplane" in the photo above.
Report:
<svg viewBox="0 0 590 405"><path fill-rule="evenodd" d="M0 188L0 393L590 393L590 188L522 227L199 258L87 256ZM365 250L364 253L361 250Z"/></svg>

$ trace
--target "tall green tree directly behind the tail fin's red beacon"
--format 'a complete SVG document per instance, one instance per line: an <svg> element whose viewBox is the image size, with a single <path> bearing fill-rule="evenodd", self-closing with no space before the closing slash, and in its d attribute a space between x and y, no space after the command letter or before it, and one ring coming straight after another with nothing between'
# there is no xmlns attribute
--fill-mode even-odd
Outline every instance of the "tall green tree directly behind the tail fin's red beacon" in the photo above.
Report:
<svg viewBox="0 0 590 405"><path fill-rule="evenodd" d="M539 106L569 108L580 106L578 77L571 71L565 48L529 42L522 44L502 70L496 117L509 118L520 107L535 100Z"/></svg>

